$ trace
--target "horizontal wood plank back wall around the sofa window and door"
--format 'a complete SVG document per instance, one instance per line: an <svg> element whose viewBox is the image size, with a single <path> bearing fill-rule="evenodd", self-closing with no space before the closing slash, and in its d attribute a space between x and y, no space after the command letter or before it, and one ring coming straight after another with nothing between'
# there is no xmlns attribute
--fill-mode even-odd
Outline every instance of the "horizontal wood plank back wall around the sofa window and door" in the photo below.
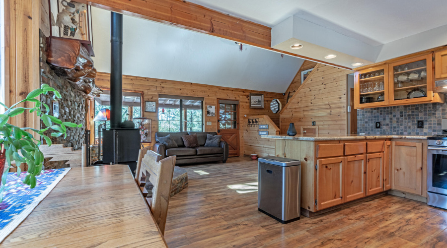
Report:
<svg viewBox="0 0 447 248"><path fill-rule="evenodd" d="M98 87L108 89L110 88L110 74L98 72L95 83ZM228 87L219 87L213 85L205 85L198 83L188 83L180 81L162 80L147 77L137 76L123 76L123 90L142 91L144 94L144 101L157 102L158 107L158 94L168 95L183 95L194 96L204 98L204 109L207 105L216 106L216 110L219 109L217 99L229 99L239 101L239 121L243 120L246 116L260 116L267 115L272 119L272 122L279 124L279 114L273 114L270 110L270 102L276 98L284 103L284 96L282 93L272 93L263 91L244 90ZM250 109L248 105L248 97L251 93L264 94L264 109ZM143 101L143 104L144 104ZM158 130L158 114L144 112L144 117L152 119L152 142L155 142L155 132ZM217 131L218 122L217 117L207 117L205 111L205 131ZM91 115L90 115L91 117ZM211 125L207 125L207 122L211 122ZM242 124L241 122L239 124ZM240 126L240 125L239 125ZM243 128L240 126L240 154L244 154L244 139Z"/></svg>

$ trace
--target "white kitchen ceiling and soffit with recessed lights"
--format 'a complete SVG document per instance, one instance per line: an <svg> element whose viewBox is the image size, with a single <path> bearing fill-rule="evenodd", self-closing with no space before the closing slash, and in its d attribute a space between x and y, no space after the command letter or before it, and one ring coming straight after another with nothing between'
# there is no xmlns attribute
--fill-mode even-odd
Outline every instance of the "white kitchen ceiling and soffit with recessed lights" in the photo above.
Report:
<svg viewBox="0 0 447 248"><path fill-rule="evenodd" d="M347 67L447 44L446 0L191 1L272 27L274 48Z"/></svg>

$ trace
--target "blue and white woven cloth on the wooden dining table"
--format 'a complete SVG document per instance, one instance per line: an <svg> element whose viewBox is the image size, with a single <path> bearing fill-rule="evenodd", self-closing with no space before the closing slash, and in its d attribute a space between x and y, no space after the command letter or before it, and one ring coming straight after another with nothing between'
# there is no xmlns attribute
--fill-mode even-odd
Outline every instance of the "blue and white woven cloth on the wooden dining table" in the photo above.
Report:
<svg viewBox="0 0 447 248"><path fill-rule="evenodd" d="M4 187L3 202L0 203L0 243L33 211L71 168L43 170L36 177L36 187L31 189L22 183L26 172L20 177L8 173Z"/></svg>

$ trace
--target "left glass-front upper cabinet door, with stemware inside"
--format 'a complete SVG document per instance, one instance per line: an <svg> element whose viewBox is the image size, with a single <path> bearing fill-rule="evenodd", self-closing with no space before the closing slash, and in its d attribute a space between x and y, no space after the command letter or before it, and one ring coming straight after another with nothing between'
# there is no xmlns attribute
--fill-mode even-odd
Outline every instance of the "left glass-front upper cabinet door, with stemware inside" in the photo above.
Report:
<svg viewBox="0 0 447 248"><path fill-rule="evenodd" d="M388 67L377 66L355 74L356 109L379 107L388 104Z"/></svg>

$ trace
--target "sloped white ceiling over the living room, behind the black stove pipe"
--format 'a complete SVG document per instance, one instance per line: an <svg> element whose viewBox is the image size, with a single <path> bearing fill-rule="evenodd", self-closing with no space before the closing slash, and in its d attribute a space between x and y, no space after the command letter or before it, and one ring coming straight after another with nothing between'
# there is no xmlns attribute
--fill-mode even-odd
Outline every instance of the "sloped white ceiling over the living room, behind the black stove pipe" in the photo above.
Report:
<svg viewBox="0 0 447 248"><path fill-rule="evenodd" d="M110 11L92 7L94 64L110 72ZM123 18L123 74L284 93L303 60L132 16Z"/></svg>

